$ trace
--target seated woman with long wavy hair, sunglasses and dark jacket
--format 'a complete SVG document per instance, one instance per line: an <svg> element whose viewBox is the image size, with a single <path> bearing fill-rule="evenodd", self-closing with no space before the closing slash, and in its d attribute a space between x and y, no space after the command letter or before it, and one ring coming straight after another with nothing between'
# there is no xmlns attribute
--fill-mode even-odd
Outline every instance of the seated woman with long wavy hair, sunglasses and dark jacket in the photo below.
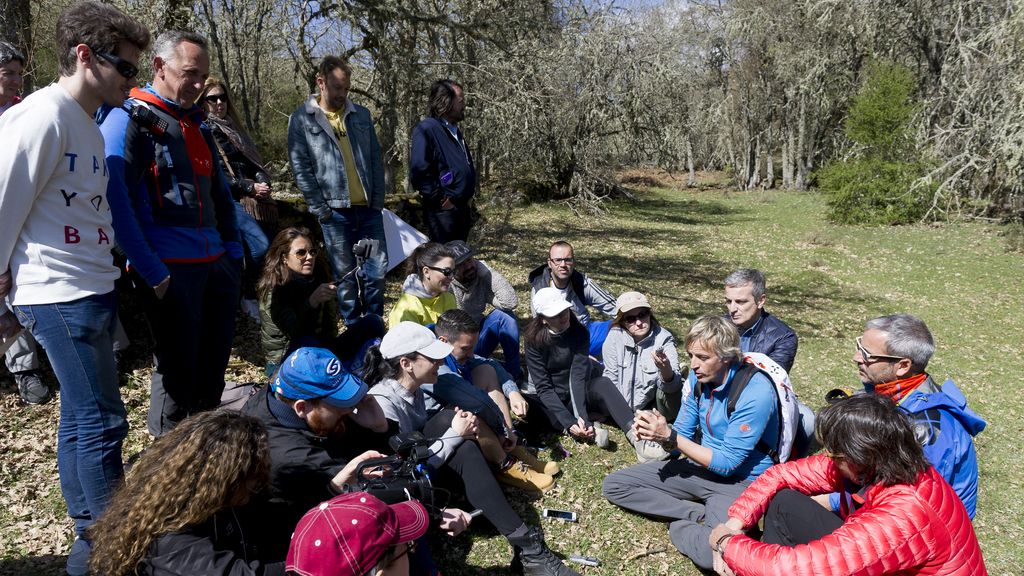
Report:
<svg viewBox="0 0 1024 576"><path fill-rule="evenodd" d="M369 344L384 335L381 317L368 314L338 334L337 284L325 281L309 231L287 228L267 250L256 291L266 375L301 346L326 347L349 371L361 366Z"/></svg>

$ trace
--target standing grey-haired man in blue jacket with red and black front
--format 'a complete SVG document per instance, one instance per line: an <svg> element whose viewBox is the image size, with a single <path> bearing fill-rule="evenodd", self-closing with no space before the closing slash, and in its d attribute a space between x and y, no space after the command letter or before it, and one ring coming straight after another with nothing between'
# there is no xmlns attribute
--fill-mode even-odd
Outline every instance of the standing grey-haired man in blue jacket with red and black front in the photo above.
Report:
<svg viewBox="0 0 1024 576"><path fill-rule="evenodd" d="M128 101L134 119L106 109L100 126L118 246L135 284L148 288L157 366L147 423L158 437L217 408L234 336L242 244L206 113L196 106L209 70L205 38L161 34L153 84Z"/></svg>

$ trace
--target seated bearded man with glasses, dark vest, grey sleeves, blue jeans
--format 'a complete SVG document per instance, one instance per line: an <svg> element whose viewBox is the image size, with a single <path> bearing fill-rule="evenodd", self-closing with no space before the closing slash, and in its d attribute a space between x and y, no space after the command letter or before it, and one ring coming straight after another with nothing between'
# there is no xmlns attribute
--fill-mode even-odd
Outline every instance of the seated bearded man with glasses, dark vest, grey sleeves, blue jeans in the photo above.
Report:
<svg viewBox="0 0 1024 576"><path fill-rule="evenodd" d="M590 355L600 360L601 347L608 336L608 329L611 328L611 320L595 321L591 318L587 306L592 306L607 316L614 316L615 297L586 274L575 270L572 245L564 240L552 244L548 251L548 263L529 273L529 286L530 302L534 300L534 294L542 288L550 286L562 292L565 299L572 304L572 314L577 320L590 332ZM537 316L532 304L530 306L530 313Z"/></svg>

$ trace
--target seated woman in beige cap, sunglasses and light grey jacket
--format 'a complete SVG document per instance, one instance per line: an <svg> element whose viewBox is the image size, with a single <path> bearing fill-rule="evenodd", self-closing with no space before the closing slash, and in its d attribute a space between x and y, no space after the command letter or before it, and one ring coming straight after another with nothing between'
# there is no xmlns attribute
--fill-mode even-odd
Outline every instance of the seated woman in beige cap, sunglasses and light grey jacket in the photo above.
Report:
<svg viewBox="0 0 1024 576"><path fill-rule="evenodd" d="M624 292L615 300L615 319L604 340L604 376L633 410L656 406L667 420L679 412L683 379L676 338L654 318L647 296Z"/></svg>

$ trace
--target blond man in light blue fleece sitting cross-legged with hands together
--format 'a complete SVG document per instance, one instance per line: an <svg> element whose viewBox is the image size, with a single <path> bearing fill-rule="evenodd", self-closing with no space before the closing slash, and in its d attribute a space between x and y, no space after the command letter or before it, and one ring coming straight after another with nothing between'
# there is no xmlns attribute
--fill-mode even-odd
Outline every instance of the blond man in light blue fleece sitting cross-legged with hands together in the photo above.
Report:
<svg viewBox="0 0 1024 576"><path fill-rule="evenodd" d="M690 376L684 404L672 426L656 411L641 411L634 429L681 457L653 461L608 475L603 493L626 509L671 522L679 551L712 569L708 537L728 519L732 501L768 469L770 447L778 443L779 416L770 378L742 362L739 333L721 317L706 316L684 340ZM730 409L733 388L741 387Z"/></svg>

